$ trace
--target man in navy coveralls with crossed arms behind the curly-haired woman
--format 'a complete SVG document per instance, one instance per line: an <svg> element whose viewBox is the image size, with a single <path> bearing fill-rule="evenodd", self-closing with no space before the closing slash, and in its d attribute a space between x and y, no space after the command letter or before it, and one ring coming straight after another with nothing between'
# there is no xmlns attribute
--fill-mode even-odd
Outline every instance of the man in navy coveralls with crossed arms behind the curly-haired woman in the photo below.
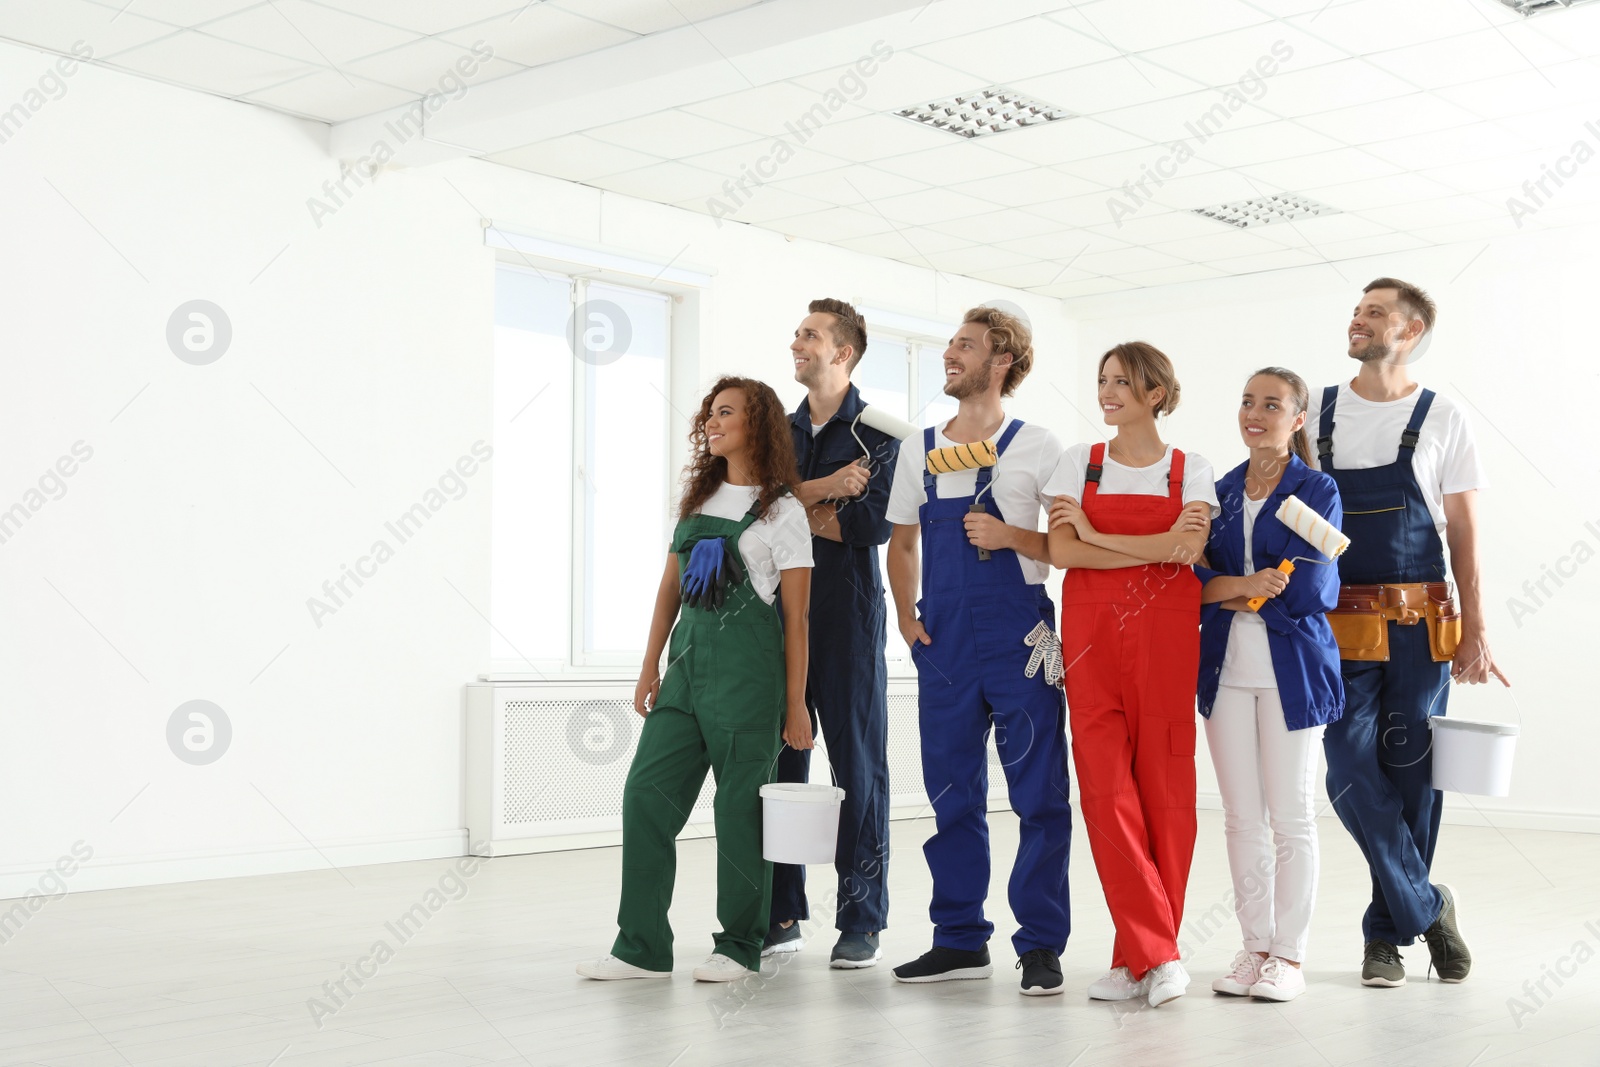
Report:
<svg viewBox="0 0 1600 1067"><path fill-rule="evenodd" d="M872 966L888 925L888 669L878 545L890 539L890 499L899 442L856 421L866 402L850 382L867 350L867 325L843 301L811 301L789 346L806 398L790 416L800 485L811 518L811 667L806 702L821 723L827 761L845 803L838 814L838 905L834 968ZM779 782L803 782L811 752L784 747ZM773 865L771 928L762 955L797 952L810 918L805 867Z"/></svg>

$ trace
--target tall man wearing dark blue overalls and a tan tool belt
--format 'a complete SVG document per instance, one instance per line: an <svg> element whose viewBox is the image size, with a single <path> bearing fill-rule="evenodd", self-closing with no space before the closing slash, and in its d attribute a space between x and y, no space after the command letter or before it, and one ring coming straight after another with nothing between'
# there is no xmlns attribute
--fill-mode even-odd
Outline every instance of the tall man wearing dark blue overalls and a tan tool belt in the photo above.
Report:
<svg viewBox="0 0 1600 1067"><path fill-rule="evenodd" d="M1414 285L1368 285L1347 331L1360 370L1314 394L1307 419L1350 537L1339 557L1339 606L1328 613L1346 705L1323 749L1328 797L1373 875L1362 920L1365 985L1405 985L1400 947L1416 937L1442 981L1459 982L1472 968L1456 894L1429 873L1443 797L1427 720L1445 713L1451 677L1510 685L1483 629L1477 491L1488 482L1472 430L1454 403L1410 376L1434 315Z"/></svg>

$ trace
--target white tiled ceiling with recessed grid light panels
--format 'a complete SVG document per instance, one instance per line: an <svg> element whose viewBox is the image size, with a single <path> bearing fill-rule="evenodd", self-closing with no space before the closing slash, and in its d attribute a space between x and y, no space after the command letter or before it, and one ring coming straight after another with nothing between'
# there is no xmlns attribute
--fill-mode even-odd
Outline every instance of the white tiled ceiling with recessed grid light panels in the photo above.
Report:
<svg viewBox="0 0 1600 1067"><path fill-rule="evenodd" d="M1507 197L1574 142L1600 150L1600 5L0 0L0 37L88 42L107 67L333 123L334 146L370 142L486 42L416 162L720 200L738 222L1061 298L1510 234ZM798 146L789 123L874 42L893 56ZM1202 144L1187 123L1274 45L1293 56ZM963 141L893 115L994 83L1078 117ZM792 158L730 197L774 138ZM1178 141L1194 157L1134 203L1126 184ZM1546 189L1523 227L1600 219L1600 162ZM1192 213L1277 192L1338 214L1238 230ZM1120 224L1112 197L1136 208Z"/></svg>

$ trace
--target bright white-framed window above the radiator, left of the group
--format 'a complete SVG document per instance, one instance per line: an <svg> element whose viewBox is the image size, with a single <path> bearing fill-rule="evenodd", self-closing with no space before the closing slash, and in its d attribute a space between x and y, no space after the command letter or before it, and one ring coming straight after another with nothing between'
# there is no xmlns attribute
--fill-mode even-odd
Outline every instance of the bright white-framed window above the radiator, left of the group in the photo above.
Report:
<svg viewBox="0 0 1600 1067"><path fill-rule="evenodd" d="M638 665L670 534L670 302L549 270L496 269L498 669Z"/></svg>

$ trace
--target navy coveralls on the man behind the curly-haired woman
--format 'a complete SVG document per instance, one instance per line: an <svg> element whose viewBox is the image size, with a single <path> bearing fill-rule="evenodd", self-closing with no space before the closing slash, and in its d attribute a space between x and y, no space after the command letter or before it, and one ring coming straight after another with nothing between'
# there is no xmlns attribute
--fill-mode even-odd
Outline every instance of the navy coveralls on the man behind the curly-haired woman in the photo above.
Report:
<svg viewBox="0 0 1600 1067"><path fill-rule="evenodd" d="M838 910L835 926L870 934L888 926L890 766L888 667L883 662L885 606L878 545L890 539L885 517L899 440L870 426L851 424L866 408L854 386L834 418L811 435L811 402L790 416L800 478L826 478L866 459L872 477L859 498L837 501L843 541L811 537L811 662L806 705L811 729L821 721L827 760L845 790L838 813ZM870 450L862 454L856 435ZM784 745L778 757L779 782L803 782L811 752ZM771 921L810 918L805 867L773 865Z"/></svg>

